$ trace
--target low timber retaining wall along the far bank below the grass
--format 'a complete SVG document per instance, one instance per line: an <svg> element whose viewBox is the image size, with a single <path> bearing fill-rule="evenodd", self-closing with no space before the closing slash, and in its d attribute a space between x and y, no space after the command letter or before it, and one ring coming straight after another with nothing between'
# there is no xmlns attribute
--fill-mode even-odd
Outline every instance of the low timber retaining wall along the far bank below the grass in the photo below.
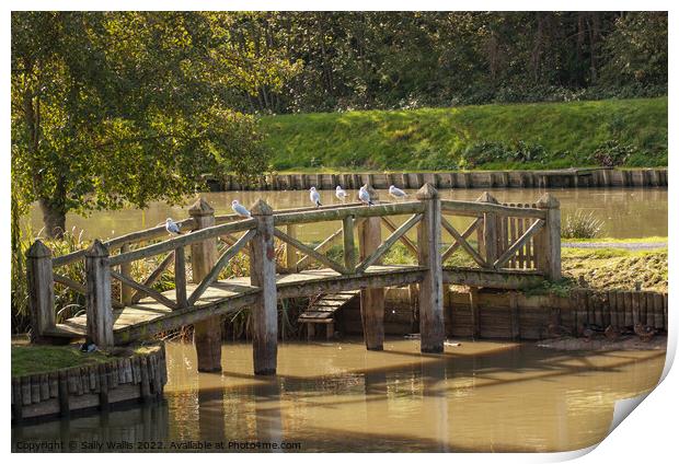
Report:
<svg viewBox="0 0 679 464"><path fill-rule="evenodd" d="M334 190L337 185L358 189L364 184L385 189L419 188L425 183L436 188L590 188L590 187L667 187L668 173L661 169L578 167L545 171L439 171L406 173L322 173L268 174L255 184L241 183L234 175L208 177L211 192L231 190Z"/></svg>

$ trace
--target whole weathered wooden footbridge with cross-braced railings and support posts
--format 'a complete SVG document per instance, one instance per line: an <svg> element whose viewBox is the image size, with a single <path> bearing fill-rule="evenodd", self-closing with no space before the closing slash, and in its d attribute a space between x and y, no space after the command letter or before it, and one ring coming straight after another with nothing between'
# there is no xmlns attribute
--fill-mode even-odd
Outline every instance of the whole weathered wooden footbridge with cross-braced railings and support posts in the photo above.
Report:
<svg viewBox="0 0 679 464"><path fill-rule="evenodd" d="M218 371L219 316L249 306L254 372L272 374L277 299L360 290L366 346L381 349L384 288L418 283L421 349L441 352L444 285L513 289L561 277L561 213L559 201L549 194L533 205L500 205L488 194L476 201L441 200L426 184L414 201L376 202L273 211L260 200L252 218L243 219L215 216L199 199L191 218L180 222L187 231L183 235L170 237L157 227L95 240L88 250L56 257L37 240L27 253L33 340L88 337L106 348L193 324L198 370ZM469 221L464 230L453 227L459 218ZM317 246L297 239L299 229L321 222L341 227ZM384 239L382 225L389 232ZM445 243L444 233L450 237ZM381 264L396 242L416 264ZM327 254L336 243L342 245L341 262ZM285 253L277 253L281 248ZM227 265L239 253L249 256L250 276L226 276ZM473 265L447 265L459 263L462 255ZM130 276L134 263L141 260L158 264L140 282ZM61 270L83 262L83 281ZM172 264L174 289L157 290L154 285ZM55 285L84 294L85 314L57 323Z"/></svg>

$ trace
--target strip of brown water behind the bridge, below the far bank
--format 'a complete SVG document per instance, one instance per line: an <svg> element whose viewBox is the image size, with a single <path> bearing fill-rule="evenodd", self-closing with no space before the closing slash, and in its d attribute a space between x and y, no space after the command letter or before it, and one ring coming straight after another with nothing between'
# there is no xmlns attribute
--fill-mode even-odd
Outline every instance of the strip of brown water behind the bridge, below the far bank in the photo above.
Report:
<svg viewBox="0 0 679 464"><path fill-rule="evenodd" d="M408 190L413 194L415 190ZM502 202L534 202L544 190L539 189L490 189ZM602 236L614 239L667 236L667 189L665 188L612 188L612 189L550 189L561 201L562 216L576 210L591 211L603 221ZM481 189L441 189L441 197L447 199L473 200ZM355 193L349 193L354 195ZM379 192L380 198L388 199L385 190ZM203 194L218 214L231 213L231 200L239 199L243 205L253 205L263 198L274 208L294 208L311 206L308 192L222 192ZM334 192L322 190L323 204L338 202ZM145 210L124 209L118 211L96 211L89 218L69 214L68 228L84 230L83 235L92 237L112 237L127 232L158 225L165 218L186 218L188 207L195 198L187 199L186 205L171 207L163 202L154 202ZM34 231L43 227L39 208L31 212L31 225ZM464 222L464 221L462 221ZM454 225L463 227L462 223ZM315 241L327 236L337 224L304 227L300 232L302 240Z"/></svg>

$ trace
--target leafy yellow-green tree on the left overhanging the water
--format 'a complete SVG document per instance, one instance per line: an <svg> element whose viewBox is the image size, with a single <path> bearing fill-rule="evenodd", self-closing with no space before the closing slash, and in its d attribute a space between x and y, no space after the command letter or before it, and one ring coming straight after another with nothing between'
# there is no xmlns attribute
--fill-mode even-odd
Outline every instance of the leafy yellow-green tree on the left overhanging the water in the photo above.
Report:
<svg viewBox="0 0 679 464"><path fill-rule="evenodd" d="M233 95L295 67L237 49L233 13L13 12L12 178L46 232L68 211L177 201L205 173L267 169Z"/></svg>

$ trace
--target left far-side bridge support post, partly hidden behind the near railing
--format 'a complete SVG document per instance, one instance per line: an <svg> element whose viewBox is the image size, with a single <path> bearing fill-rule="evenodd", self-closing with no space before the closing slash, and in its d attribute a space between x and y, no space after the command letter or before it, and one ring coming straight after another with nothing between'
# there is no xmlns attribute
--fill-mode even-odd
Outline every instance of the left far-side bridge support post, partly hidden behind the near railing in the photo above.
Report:
<svg viewBox="0 0 679 464"><path fill-rule="evenodd" d="M215 210L199 198L188 210L194 230L215 225ZM207 239L191 245L191 266L194 283L199 283L217 263L217 239ZM194 324L194 345L199 372L221 371L221 320L208 317Z"/></svg>

